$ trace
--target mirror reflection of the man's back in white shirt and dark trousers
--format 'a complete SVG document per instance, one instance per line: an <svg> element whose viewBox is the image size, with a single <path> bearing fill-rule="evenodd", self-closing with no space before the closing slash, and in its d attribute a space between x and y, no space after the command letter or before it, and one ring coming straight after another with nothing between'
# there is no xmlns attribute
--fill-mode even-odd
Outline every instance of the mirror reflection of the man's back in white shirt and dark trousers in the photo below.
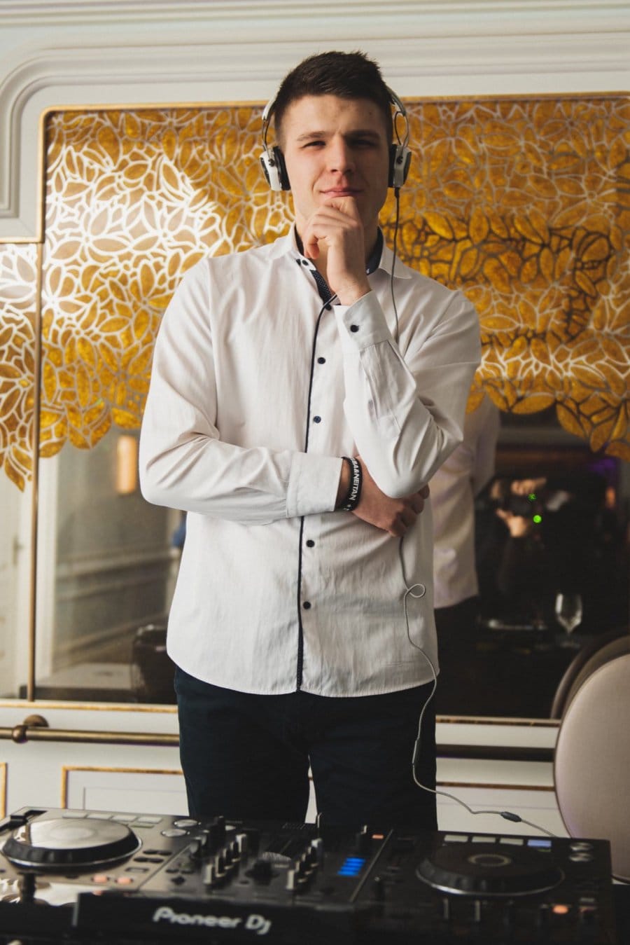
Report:
<svg viewBox="0 0 630 945"><path fill-rule="evenodd" d="M435 694L438 712L455 710L451 694L461 691L461 672L474 645L479 614L474 500L494 475L499 427L499 410L485 396L466 415L463 441L430 483L435 627L440 658Z"/></svg>

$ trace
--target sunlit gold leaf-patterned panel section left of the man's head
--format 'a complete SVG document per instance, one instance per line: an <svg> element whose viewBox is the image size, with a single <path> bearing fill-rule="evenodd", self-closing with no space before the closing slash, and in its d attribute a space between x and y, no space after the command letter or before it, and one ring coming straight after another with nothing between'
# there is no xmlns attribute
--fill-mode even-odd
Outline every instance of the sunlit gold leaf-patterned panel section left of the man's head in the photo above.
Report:
<svg viewBox="0 0 630 945"><path fill-rule="evenodd" d="M162 312L206 253L285 231L257 108L60 112L48 121L41 449L140 425ZM286 201L285 201L286 202Z"/></svg>

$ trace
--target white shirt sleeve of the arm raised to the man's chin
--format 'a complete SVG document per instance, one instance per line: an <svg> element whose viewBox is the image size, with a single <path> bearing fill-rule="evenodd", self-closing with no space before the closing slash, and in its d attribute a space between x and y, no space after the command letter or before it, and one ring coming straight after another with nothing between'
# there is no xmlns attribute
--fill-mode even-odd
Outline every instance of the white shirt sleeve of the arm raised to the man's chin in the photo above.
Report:
<svg viewBox="0 0 630 945"><path fill-rule="evenodd" d="M479 358L478 323L468 301L449 300L439 336L422 337L418 329L416 347L404 360L374 293L337 313L346 420L358 452L390 496L419 490L462 438Z"/></svg>

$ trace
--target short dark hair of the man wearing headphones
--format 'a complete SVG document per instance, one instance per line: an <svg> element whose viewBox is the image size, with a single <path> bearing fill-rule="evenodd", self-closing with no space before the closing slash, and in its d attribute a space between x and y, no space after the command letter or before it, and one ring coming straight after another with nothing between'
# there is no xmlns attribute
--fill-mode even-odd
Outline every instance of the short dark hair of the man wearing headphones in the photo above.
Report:
<svg viewBox="0 0 630 945"><path fill-rule="evenodd" d="M392 141L391 96L378 64L368 59L365 53L317 53L292 69L282 80L274 104L274 127L278 140L286 110L305 95L367 98L383 112L387 141Z"/></svg>

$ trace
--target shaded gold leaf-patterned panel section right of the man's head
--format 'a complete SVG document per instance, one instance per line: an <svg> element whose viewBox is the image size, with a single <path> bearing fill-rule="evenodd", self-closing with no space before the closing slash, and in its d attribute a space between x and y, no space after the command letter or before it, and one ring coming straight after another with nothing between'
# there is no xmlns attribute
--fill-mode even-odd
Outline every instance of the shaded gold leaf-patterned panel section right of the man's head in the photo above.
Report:
<svg viewBox="0 0 630 945"><path fill-rule="evenodd" d="M420 144L401 191L400 256L477 307L473 403L482 387L515 413L555 403L591 449L630 458L630 100L409 112Z"/></svg>

